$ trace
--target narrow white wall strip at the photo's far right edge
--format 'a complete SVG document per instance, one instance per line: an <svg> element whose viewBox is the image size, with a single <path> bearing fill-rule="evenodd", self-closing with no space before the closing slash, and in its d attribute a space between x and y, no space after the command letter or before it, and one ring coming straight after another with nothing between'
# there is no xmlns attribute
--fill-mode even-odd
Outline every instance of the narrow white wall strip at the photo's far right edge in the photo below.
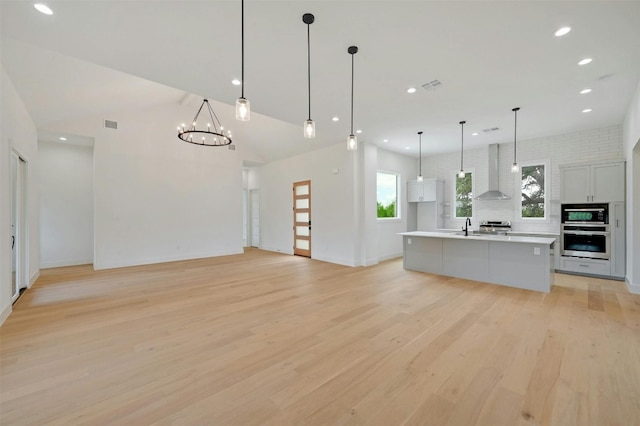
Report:
<svg viewBox="0 0 640 426"><path fill-rule="evenodd" d="M627 160L626 281L632 292L640 293L640 83L624 120L623 135Z"/></svg>

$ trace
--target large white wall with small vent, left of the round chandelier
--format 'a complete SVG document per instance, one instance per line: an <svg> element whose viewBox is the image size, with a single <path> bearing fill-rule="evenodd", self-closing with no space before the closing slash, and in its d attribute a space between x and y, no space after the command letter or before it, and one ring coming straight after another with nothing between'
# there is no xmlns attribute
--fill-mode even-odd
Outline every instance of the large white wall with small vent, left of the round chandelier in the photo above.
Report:
<svg viewBox="0 0 640 426"><path fill-rule="evenodd" d="M242 253L242 147L181 142L201 103L59 123L92 137L96 269ZM232 108L231 108L232 109ZM118 129L104 128L104 119Z"/></svg>

